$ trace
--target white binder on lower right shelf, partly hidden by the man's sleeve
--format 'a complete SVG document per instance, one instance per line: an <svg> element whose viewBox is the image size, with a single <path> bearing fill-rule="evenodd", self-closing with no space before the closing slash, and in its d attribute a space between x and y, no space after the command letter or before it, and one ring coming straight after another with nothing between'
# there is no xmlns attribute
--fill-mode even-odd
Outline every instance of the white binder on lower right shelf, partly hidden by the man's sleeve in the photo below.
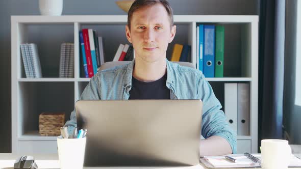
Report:
<svg viewBox="0 0 301 169"><path fill-rule="evenodd" d="M224 115L237 133L237 83L224 83Z"/></svg>

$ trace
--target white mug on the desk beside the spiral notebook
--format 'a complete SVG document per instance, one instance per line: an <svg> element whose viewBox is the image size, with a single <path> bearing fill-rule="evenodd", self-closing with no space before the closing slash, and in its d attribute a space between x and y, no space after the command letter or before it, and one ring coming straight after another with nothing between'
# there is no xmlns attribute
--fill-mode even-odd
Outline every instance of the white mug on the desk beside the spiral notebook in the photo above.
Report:
<svg viewBox="0 0 301 169"><path fill-rule="evenodd" d="M287 140L263 139L261 140L261 168L287 169L292 156Z"/></svg>

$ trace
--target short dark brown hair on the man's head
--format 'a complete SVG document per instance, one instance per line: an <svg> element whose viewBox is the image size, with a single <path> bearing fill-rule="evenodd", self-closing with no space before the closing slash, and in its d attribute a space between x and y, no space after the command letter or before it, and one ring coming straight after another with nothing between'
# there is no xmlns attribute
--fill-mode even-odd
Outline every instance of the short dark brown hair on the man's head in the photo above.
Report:
<svg viewBox="0 0 301 169"><path fill-rule="evenodd" d="M130 31L131 31L131 21L132 21L133 13L142 7L149 6L149 5L156 5L156 4L161 4L165 8L169 18L170 29L171 29L173 25L173 12L167 0L135 0L128 12L128 26Z"/></svg>

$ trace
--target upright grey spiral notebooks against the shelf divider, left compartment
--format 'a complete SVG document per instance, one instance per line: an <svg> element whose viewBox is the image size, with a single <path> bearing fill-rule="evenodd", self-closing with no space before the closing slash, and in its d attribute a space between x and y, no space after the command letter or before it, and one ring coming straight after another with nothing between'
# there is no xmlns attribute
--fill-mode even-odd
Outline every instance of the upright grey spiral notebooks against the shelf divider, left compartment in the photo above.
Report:
<svg viewBox="0 0 301 169"><path fill-rule="evenodd" d="M60 78L74 77L74 44L62 43L60 56Z"/></svg>

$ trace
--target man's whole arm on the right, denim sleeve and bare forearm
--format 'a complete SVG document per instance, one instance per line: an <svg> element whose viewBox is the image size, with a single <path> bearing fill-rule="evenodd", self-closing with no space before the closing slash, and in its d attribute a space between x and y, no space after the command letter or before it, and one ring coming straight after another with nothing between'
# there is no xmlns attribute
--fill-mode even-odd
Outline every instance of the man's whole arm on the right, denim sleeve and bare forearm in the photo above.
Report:
<svg viewBox="0 0 301 169"><path fill-rule="evenodd" d="M221 104L204 75L199 81L198 98L203 101L202 135L200 155L224 155L236 153L236 133L227 123Z"/></svg>

